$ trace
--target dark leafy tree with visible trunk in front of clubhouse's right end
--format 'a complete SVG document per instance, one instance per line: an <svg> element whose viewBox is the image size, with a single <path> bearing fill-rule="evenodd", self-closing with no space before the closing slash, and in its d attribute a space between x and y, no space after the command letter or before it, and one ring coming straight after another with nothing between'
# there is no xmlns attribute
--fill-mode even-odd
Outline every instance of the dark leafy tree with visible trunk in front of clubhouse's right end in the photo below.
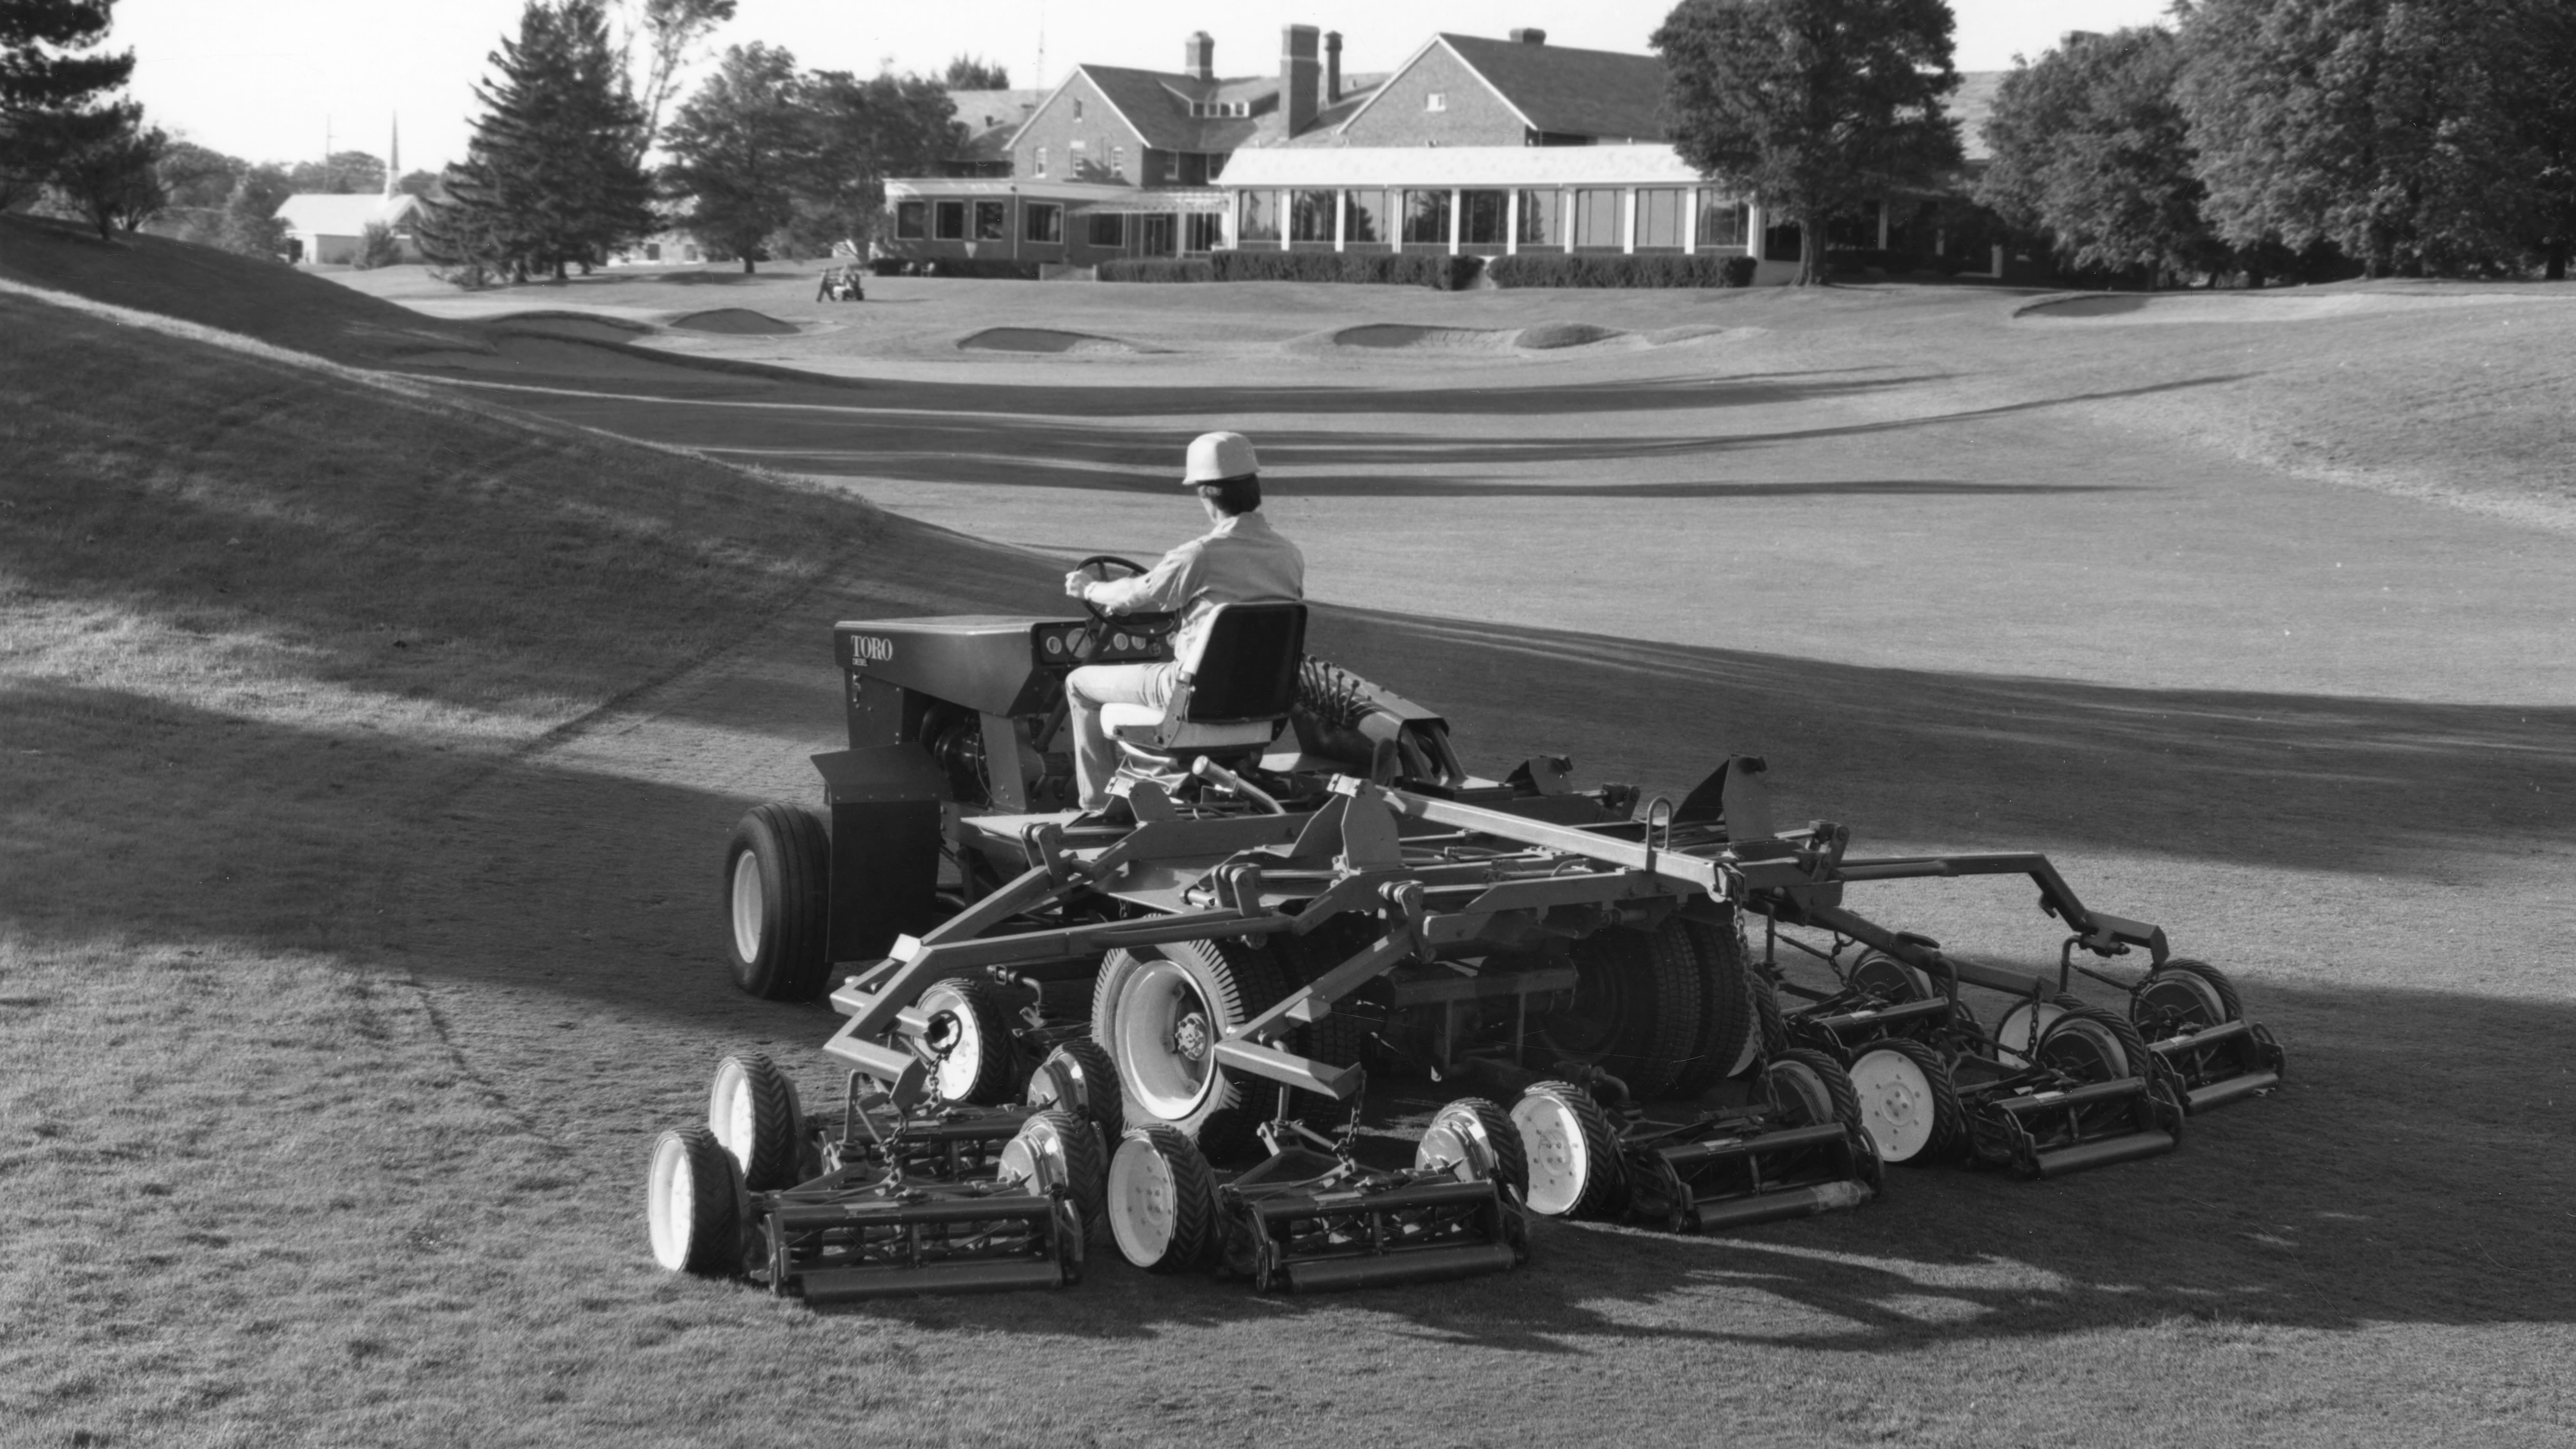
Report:
<svg viewBox="0 0 2576 1449"><path fill-rule="evenodd" d="M1801 229L1798 284L1824 281L1824 222L1960 165L1945 0L1682 0L1654 31L1672 144Z"/></svg>

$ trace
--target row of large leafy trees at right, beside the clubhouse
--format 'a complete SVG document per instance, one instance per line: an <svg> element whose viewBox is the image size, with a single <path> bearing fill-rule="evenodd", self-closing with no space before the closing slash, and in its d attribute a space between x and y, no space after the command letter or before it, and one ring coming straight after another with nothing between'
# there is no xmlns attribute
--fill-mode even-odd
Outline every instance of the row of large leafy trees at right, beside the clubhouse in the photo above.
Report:
<svg viewBox="0 0 2576 1449"><path fill-rule="evenodd" d="M2576 3L2177 0L2004 77L1973 201L2066 271L2566 278ZM1803 232L1955 193L1945 0L1682 0L1654 34L1674 144Z"/></svg>

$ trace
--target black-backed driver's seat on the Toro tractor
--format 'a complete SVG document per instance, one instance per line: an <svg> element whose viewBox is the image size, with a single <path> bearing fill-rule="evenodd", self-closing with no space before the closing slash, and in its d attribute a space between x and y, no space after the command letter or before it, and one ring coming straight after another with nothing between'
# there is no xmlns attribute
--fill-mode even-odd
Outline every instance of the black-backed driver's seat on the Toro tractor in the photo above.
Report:
<svg viewBox="0 0 2576 1449"><path fill-rule="evenodd" d="M1218 603L1198 655L1180 660L1172 699L1162 709L1103 704L1100 727L1149 758L1260 750L1296 704L1303 657L1303 603Z"/></svg>

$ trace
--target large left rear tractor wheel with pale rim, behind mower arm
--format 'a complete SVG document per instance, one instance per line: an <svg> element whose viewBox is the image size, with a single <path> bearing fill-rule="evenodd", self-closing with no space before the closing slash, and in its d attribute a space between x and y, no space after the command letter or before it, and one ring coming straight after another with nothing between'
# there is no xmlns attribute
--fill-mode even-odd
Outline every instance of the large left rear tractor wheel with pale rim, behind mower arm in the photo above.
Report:
<svg viewBox="0 0 2576 1449"><path fill-rule="evenodd" d="M1216 1160L1255 1147L1273 1096L1229 1078L1216 1044L1283 995L1278 957L1242 941L1110 951L1092 982L1092 1039L1118 1067L1128 1137L1172 1127Z"/></svg>

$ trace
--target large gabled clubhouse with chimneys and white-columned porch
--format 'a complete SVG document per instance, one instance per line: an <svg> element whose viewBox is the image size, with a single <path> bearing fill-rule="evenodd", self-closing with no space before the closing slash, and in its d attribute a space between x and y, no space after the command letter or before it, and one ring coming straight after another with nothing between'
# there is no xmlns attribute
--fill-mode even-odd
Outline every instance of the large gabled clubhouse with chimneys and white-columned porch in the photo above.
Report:
<svg viewBox="0 0 2576 1449"><path fill-rule="evenodd" d="M1996 75L1963 77L1971 165ZM1025 103L981 165L886 183L878 255L971 271L1087 268L1221 248L1342 253L1752 255L1788 281L1798 229L1708 186L1669 144L1651 54L1432 36L1391 75L1345 77L1342 36L1288 26L1278 75L1218 77L1206 31L1182 70L1079 64ZM1940 222L1940 199L1893 199L1832 227L1829 245L1978 276L1989 240Z"/></svg>

